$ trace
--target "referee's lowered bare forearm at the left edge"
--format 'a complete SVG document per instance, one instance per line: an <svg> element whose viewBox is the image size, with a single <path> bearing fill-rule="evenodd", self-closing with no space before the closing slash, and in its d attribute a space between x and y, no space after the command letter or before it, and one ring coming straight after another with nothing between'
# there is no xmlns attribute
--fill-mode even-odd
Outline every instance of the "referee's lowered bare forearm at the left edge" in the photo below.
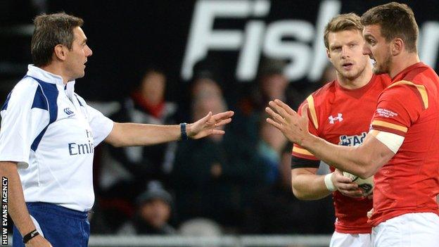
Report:
<svg viewBox="0 0 439 247"><path fill-rule="evenodd" d="M8 213L23 235L35 229L27 211L25 196L17 171L17 163L0 161L0 175L8 178Z"/></svg>

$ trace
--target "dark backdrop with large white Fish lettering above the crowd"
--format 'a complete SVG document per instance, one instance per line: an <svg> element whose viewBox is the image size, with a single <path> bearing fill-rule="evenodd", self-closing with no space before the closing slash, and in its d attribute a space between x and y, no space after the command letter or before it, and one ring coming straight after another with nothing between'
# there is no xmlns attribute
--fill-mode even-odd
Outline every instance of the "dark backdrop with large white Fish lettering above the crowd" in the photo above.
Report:
<svg viewBox="0 0 439 247"><path fill-rule="evenodd" d="M167 75L166 99L179 106L175 117L179 122L190 120L187 91L196 62L208 61L207 68L224 90L229 108L236 110L236 103L257 84L263 58L281 59L286 63L288 87L303 97L301 101L319 87L328 63L322 42L327 20L338 13L361 15L386 2L1 1L0 100L32 62L32 18L37 13L65 11L84 18L83 29L93 50L86 76L75 85L84 99L104 108L110 101L120 101L137 83L139 72L154 65ZM435 9L439 1L400 2L413 8L418 21L421 61L438 71L439 14ZM330 233L324 231L310 234Z"/></svg>

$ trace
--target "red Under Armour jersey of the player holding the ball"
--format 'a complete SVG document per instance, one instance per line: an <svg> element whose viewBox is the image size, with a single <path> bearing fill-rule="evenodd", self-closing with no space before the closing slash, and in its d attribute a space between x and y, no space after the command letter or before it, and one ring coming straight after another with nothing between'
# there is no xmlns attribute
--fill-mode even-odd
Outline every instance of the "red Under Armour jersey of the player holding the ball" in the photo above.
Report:
<svg viewBox="0 0 439 247"><path fill-rule="evenodd" d="M378 95L389 84L388 75L373 75L370 82L360 89L344 89L336 81L324 85L305 100L309 106L311 134L338 145L362 144L369 132ZM299 109L302 106L303 103ZM293 146L293 156L295 158L292 168L310 167L306 165L305 160L296 163L294 160L298 160L297 158L317 160L310 152L296 144ZM331 170L334 170L333 167ZM349 234L371 232L371 226L367 223L367 212L372 208L371 200L351 198L334 191L333 201L337 217L336 232Z"/></svg>

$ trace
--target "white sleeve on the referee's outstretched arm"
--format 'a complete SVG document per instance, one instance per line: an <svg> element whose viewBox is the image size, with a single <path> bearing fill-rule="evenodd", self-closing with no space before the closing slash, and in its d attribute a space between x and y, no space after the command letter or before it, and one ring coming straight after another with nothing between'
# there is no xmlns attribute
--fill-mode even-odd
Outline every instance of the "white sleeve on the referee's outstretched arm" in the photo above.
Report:
<svg viewBox="0 0 439 247"><path fill-rule="evenodd" d="M94 146L98 146L98 144L108 137L111 130L113 130L114 122L104 116L100 111L88 105L87 112L89 113L89 125L93 132Z"/></svg>

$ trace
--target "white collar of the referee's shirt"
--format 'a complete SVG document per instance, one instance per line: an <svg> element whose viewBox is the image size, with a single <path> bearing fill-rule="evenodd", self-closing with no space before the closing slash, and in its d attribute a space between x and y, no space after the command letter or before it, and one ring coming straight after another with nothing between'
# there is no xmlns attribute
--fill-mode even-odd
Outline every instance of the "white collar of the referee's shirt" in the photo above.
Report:
<svg viewBox="0 0 439 247"><path fill-rule="evenodd" d="M43 82L56 84L57 86L62 87L70 99L75 93L75 80L64 84L63 77L61 77L60 75L52 74L51 72L42 70L41 68L38 68L37 66L34 66L32 64L27 65L27 75L42 80Z"/></svg>

